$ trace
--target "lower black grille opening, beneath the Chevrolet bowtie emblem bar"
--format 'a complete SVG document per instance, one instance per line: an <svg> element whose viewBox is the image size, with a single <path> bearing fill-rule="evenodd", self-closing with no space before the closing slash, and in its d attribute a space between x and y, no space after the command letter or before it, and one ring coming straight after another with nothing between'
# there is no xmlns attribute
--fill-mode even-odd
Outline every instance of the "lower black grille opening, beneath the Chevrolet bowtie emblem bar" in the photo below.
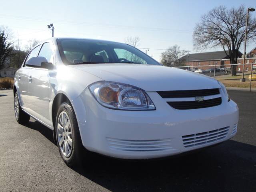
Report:
<svg viewBox="0 0 256 192"><path fill-rule="evenodd" d="M206 107L218 106L222 102L221 97L208 99L203 101L169 101L167 102L171 107L175 109L200 109Z"/></svg>

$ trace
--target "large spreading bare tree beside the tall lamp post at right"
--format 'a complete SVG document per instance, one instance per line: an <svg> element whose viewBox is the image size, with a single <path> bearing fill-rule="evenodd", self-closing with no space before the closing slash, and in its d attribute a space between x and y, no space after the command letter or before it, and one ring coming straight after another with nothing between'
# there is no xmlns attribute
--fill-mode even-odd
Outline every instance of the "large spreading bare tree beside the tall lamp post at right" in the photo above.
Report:
<svg viewBox="0 0 256 192"><path fill-rule="evenodd" d="M194 28L194 47L196 49L221 47L230 59L237 64L239 49L244 42L246 28L246 9L243 5L227 9L219 6L201 17ZM256 39L256 18L249 15L248 41ZM236 66L232 66L232 76L236 75Z"/></svg>

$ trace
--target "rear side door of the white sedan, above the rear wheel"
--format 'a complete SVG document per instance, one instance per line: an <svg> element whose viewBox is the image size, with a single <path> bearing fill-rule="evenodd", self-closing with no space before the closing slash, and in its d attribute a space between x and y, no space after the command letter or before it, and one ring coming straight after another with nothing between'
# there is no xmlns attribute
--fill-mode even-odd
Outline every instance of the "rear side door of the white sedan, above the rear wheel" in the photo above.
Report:
<svg viewBox="0 0 256 192"><path fill-rule="evenodd" d="M18 88L19 88L20 97L22 100L21 105L22 105L22 108L24 108L25 110L28 109L28 106L30 103L30 100L29 100L30 92L28 88L30 86L29 77L32 69L31 67L26 66L26 61L32 57L36 57L38 54L39 48L40 46L37 46L30 51L30 53L28 54L24 62L24 65L19 70L20 73L18 74Z"/></svg>

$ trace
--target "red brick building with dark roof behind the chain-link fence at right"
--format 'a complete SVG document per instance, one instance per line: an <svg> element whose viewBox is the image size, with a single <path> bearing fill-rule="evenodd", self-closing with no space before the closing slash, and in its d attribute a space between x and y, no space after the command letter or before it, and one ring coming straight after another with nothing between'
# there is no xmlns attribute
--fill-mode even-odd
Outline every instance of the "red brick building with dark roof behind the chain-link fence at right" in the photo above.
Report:
<svg viewBox="0 0 256 192"><path fill-rule="evenodd" d="M243 64L243 59L242 53L239 52L238 64ZM230 60L228 56L226 56L225 51L188 54L183 57L183 62L190 68L198 68L202 70L214 68L214 66L216 66L216 68L230 67ZM248 52L245 63L248 64L244 66L245 71L251 70L251 63L253 63L253 69L256 69L256 48ZM238 65L236 69L237 72L242 72L242 67L242 65Z"/></svg>

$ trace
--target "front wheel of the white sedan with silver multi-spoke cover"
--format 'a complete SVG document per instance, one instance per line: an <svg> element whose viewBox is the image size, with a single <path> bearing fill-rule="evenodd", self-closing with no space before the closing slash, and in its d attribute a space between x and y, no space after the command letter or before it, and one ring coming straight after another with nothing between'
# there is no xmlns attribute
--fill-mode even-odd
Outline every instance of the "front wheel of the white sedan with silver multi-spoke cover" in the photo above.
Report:
<svg viewBox="0 0 256 192"><path fill-rule="evenodd" d="M56 142L64 162L69 167L81 165L86 149L82 145L76 115L70 103L60 104L56 115L55 129Z"/></svg>

